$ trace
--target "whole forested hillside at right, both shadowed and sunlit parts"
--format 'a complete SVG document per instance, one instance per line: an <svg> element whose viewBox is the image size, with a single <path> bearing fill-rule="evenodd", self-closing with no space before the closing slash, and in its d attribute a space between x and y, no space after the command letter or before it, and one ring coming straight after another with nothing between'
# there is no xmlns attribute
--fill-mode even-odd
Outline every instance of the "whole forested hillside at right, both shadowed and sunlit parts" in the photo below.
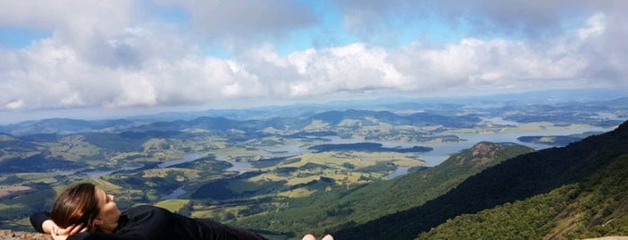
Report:
<svg viewBox="0 0 628 240"><path fill-rule="evenodd" d="M628 123L563 148L509 159L419 207L342 229L335 236L412 239L447 219L482 210L487 211L450 220L423 237L626 235L626 154Z"/></svg>

